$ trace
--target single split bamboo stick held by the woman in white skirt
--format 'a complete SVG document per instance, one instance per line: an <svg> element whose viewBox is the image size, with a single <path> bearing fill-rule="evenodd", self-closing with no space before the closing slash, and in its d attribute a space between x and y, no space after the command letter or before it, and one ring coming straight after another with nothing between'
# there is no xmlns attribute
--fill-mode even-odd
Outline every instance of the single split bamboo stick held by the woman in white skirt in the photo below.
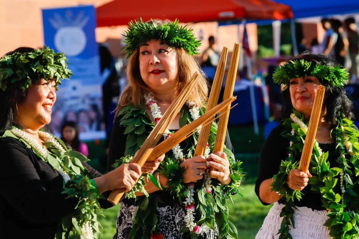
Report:
<svg viewBox="0 0 359 239"><path fill-rule="evenodd" d="M303 146L302 157L300 157L298 167L298 169L304 173L308 172L309 163L311 162L314 140L317 134L320 114L322 112L324 93L325 87L323 85L318 86L317 94L313 103L311 118L309 119L307 136Z"/></svg>

